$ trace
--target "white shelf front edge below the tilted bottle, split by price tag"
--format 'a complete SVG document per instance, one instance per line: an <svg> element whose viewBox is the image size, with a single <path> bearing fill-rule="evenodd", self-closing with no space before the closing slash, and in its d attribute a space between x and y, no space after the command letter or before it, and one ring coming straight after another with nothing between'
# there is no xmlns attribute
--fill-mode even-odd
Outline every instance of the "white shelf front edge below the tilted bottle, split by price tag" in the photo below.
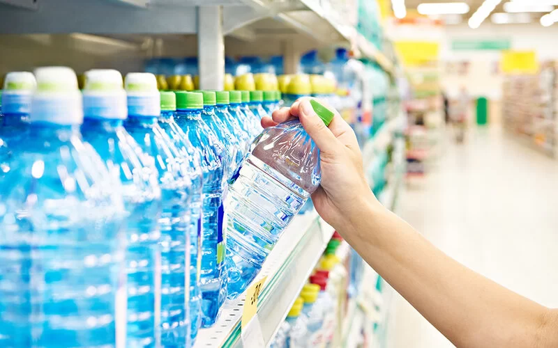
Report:
<svg viewBox="0 0 558 348"><path fill-rule="evenodd" d="M289 308L332 235L333 228L324 223L315 211L295 216L264 262L262 271L255 280L259 281L267 276L259 295L255 318L265 318L258 319L265 345L269 345L287 317ZM195 347L243 346L243 339L248 335L241 332L245 299L246 295L243 294L239 299L227 301L218 322L209 329L199 331Z"/></svg>

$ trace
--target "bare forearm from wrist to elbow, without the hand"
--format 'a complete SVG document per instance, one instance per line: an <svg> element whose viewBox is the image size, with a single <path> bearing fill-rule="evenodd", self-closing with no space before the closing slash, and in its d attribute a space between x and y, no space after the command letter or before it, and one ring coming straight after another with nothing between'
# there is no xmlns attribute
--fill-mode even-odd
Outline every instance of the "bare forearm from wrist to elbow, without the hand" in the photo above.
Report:
<svg viewBox="0 0 558 348"><path fill-rule="evenodd" d="M405 221L367 200L340 232L458 347L534 347L547 309L449 258ZM549 345L548 347L554 347Z"/></svg>

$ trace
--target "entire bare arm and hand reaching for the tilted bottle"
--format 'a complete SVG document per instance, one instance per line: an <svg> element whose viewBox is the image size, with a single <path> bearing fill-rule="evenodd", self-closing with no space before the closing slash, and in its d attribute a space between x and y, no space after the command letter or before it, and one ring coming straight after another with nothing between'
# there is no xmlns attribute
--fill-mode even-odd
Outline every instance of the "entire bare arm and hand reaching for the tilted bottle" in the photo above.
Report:
<svg viewBox="0 0 558 348"><path fill-rule="evenodd" d="M368 188L354 132L336 114L325 127L308 100L264 118L299 117L320 149L317 212L388 283L458 347L558 347L558 311L545 308L449 258Z"/></svg>

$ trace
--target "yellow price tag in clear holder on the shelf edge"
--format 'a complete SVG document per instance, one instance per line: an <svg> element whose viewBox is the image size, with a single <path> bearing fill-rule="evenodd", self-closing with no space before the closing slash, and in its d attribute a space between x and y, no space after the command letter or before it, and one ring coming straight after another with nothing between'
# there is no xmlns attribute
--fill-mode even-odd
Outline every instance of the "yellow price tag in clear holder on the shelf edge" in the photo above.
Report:
<svg viewBox="0 0 558 348"><path fill-rule="evenodd" d="M241 340L243 347L259 348L265 347L264 333L257 317L257 302L259 294L262 292L267 276L253 283L246 290L246 300L244 301L242 321L241 321Z"/></svg>

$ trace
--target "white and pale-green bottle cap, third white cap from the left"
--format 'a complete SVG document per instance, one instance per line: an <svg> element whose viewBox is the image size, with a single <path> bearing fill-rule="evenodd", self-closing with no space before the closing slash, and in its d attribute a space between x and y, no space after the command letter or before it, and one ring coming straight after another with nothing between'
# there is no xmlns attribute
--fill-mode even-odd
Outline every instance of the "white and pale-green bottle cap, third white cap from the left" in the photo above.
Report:
<svg viewBox="0 0 558 348"><path fill-rule="evenodd" d="M85 72L83 89L85 117L125 120L128 117L126 90L122 74L113 69L93 69Z"/></svg>

